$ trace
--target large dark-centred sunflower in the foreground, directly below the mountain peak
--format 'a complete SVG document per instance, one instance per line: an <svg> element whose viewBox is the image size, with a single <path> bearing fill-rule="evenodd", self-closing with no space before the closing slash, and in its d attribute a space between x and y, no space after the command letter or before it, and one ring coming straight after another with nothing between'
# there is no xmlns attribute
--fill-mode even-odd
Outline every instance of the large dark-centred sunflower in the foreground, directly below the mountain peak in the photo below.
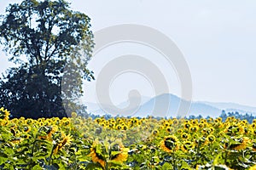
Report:
<svg viewBox="0 0 256 170"><path fill-rule="evenodd" d="M173 150L178 150L179 144L176 136L166 136L164 140L160 142L160 147L166 152L172 152Z"/></svg>

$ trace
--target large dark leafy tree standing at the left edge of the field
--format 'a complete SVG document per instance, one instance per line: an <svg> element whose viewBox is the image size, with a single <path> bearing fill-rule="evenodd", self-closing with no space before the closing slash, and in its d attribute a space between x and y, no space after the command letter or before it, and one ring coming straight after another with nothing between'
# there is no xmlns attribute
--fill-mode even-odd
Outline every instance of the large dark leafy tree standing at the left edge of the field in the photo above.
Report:
<svg viewBox="0 0 256 170"><path fill-rule="evenodd" d="M24 0L6 9L0 37L18 65L0 82L0 105L30 117L65 116L64 106L78 108L82 79L94 78L86 68L94 46L86 14L64 0Z"/></svg>

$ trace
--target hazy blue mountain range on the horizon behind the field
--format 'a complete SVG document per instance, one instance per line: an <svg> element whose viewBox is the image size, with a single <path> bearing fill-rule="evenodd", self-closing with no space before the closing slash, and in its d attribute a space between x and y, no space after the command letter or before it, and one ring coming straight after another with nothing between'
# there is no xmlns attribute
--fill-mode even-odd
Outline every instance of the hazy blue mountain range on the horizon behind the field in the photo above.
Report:
<svg viewBox="0 0 256 170"><path fill-rule="evenodd" d="M185 112L183 109L181 112L178 112L179 105L183 101L183 104L185 106L189 105L189 101L186 101L184 99L180 99L176 95L173 94L160 94L158 96L155 96L154 98L148 98L143 97L141 105L137 107L137 110L135 111L134 108L131 108L131 110L125 110L124 114L122 112L115 113L116 110L112 106L106 106L108 107L109 111L113 111L111 113L108 113L110 115L119 115L119 116L127 116L125 113L131 113L129 116L161 116L161 117L170 117L170 116L177 116L178 114L180 116L212 116L217 117L221 114L221 112L224 110L226 112L228 111L238 111L240 113L255 113L256 108L245 106L245 105L238 105L238 104L232 104L232 103L212 103L212 102L191 102L191 105L189 107L188 112ZM91 104L90 104L91 105ZM121 104L117 105L118 108L125 108L129 105L129 102L122 102ZM90 106L88 107L89 111L94 114L104 115L106 114L106 111L102 111L99 106L96 107L94 105L94 108L96 110L90 110Z"/></svg>

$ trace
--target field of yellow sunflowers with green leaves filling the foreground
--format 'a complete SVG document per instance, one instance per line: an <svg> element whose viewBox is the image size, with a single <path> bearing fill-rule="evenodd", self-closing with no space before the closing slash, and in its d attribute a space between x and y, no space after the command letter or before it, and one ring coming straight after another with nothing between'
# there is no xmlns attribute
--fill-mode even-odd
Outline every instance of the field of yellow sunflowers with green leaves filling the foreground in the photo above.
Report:
<svg viewBox="0 0 256 170"><path fill-rule="evenodd" d="M9 115L0 169L256 169L256 120Z"/></svg>

